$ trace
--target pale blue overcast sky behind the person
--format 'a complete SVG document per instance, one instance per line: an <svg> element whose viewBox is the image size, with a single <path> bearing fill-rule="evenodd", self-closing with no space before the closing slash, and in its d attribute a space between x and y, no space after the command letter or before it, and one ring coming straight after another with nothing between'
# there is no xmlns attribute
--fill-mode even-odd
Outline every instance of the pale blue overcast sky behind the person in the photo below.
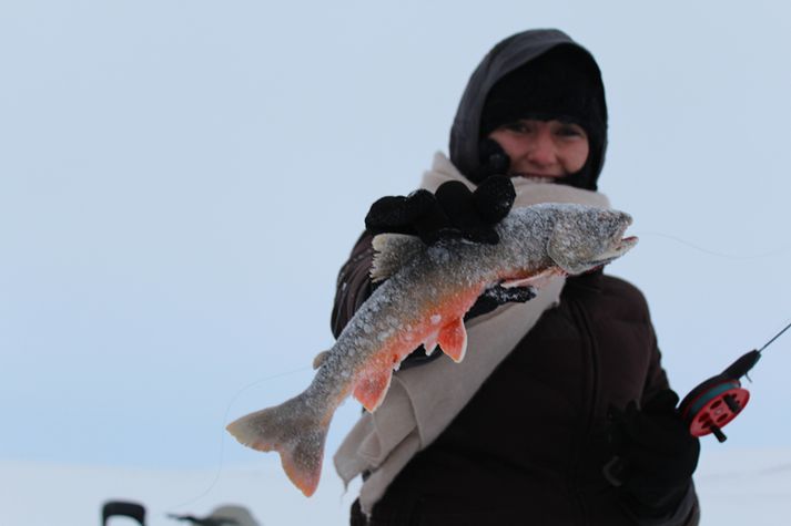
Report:
<svg viewBox="0 0 791 526"><path fill-rule="evenodd" d="M307 385L368 206L417 186L477 62L528 28L599 61L600 189L641 237L609 271L683 395L791 321L791 13L732 6L0 3L0 460L256 462L225 421ZM791 445L789 368L785 336L703 454Z"/></svg>

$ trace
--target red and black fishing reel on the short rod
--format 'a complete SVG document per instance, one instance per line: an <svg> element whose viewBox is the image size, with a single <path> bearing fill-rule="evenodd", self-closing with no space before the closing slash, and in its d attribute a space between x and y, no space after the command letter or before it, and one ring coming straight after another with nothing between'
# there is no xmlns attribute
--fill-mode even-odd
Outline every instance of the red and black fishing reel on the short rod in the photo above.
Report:
<svg viewBox="0 0 791 526"><path fill-rule="evenodd" d="M684 396L678 411L689 425L692 436L713 433L720 442L728 439L722 433L722 427L732 422L750 401L750 392L741 386L739 379L746 375L760 358L761 351L758 350L741 355L728 369L708 379Z"/></svg>

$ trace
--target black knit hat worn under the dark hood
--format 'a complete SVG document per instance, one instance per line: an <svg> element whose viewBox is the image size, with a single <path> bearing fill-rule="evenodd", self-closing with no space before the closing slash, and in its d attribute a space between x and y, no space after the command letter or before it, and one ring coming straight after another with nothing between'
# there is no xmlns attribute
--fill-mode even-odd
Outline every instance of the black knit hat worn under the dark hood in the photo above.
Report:
<svg viewBox="0 0 791 526"><path fill-rule="evenodd" d="M504 75L486 97L479 136L485 141L497 127L520 118L559 120L580 125L588 134L590 152L599 152L607 137L607 115L599 73L594 68L580 48L561 44ZM487 147L483 146L480 153L485 152ZM598 174L592 173L591 157L579 172L560 182L596 189Z"/></svg>

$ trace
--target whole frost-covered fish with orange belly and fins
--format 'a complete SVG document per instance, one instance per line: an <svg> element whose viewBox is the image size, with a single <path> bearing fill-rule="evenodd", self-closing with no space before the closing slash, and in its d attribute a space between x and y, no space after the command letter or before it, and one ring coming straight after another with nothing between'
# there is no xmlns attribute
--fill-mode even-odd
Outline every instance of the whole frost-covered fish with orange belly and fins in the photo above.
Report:
<svg viewBox="0 0 791 526"><path fill-rule="evenodd" d="M511 210L497 225L497 245L452 239L426 247L412 236L377 236L372 279L389 279L320 357L311 385L227 430L250 447L277 451L288 478L311 496L318 485L329 421L346 396L353 394L375 411L393 370L422 343L428 352L438 344L462 361L467 348L463 318L486 288L540 286L554 275L606 265L637 243L622 237L630 224L622 212L540 204Z"/></svg>

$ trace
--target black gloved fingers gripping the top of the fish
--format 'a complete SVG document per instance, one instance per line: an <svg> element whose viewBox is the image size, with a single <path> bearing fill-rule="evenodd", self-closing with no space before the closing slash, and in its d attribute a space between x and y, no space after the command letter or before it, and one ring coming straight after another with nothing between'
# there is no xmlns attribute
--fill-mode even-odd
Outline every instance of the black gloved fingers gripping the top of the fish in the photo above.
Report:
<svg viewBox="0 0 791 526"><path fill-rule="evenodd" d="M365 227L372 234L415 235L426 245L460 237L496 245L495 225L508 214L515 198L514 185L506 176L488 177L475 192L459 181L448 181L436 194L419 189L406 197L381 198L365 216Z"/></svg>

